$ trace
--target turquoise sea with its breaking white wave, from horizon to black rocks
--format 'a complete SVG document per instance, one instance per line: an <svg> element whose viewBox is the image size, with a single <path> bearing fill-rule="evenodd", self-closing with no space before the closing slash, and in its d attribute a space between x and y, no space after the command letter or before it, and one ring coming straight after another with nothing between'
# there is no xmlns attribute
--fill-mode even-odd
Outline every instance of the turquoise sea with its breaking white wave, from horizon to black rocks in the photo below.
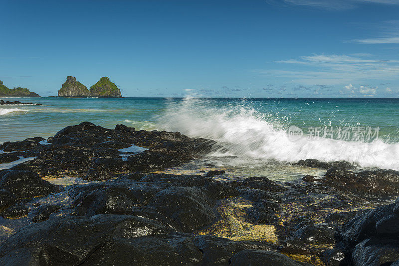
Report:
<svg viewBox="0 0 399 266"><path fill-rule="evenodd" d="M8 98L42 106L0 107L0 142L48 137L89 121L106 128L179 131L218 141L224 167L315 158L399 170L399 99L393 98ZM287 131L295 126L303 135Z"/></svg>

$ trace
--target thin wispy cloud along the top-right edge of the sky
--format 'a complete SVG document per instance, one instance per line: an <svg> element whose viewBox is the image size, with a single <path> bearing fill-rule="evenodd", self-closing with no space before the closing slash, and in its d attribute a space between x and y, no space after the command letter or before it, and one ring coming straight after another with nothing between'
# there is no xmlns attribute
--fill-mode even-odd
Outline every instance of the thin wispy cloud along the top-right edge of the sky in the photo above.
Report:
<svg viewBox="0 0 399 266"><path fill-rule="evenodd" d="M397 4L398 0L266 0L267 3L279 6L304 6L327 10L352 9L361 4Z"/></svg>

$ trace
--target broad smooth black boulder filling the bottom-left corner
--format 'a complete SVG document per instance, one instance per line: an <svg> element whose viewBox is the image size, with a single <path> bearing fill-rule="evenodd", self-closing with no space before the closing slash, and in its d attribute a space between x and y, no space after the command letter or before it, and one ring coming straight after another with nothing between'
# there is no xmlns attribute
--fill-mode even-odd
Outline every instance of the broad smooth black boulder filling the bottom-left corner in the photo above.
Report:
<svg viewBox="0 0 399 266"><path fill-rule="evenodd" d="M0 265L58 265L60 258L68 265L81 265L103 245L169 232L161 224L137 216L54 216L5 240L0 246Z"/></svg>

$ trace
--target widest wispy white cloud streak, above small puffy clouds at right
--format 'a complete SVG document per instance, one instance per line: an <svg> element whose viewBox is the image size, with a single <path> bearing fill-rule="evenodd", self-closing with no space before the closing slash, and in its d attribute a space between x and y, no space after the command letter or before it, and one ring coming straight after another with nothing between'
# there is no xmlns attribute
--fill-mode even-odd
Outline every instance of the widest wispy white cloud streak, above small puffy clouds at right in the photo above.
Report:
<svg viewBox="0 0 399 266"><path fill-rule="evenodd" d="M276 61L284 69L254 70L264 75L288 78L304 85L338 85L365 80L397 80L398 60L380 60L371 56L318 55Z"/></svg>

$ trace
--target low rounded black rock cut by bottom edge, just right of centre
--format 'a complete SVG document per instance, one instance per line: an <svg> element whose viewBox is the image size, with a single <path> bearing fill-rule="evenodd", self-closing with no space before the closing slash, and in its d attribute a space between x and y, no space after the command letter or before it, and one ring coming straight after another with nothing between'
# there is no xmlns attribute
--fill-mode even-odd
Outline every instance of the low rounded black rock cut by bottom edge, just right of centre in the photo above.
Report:
<svg viewBox="0 0 399 266"><path fill-rule="evenodd" d="M301 266L298 262L287 256L273 252L260 250L243 250L231 257L231 266Z"/></svg>

